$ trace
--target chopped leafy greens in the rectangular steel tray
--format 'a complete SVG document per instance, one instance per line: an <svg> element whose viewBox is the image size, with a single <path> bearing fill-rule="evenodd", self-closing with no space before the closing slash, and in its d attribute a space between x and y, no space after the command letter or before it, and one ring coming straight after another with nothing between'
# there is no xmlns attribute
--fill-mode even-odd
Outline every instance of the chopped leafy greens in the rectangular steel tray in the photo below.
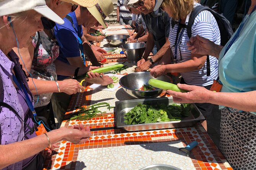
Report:
<svg viewBox="0 0 256 170"><path fill-rule="evenodd" d="M124 122L127 125L140 123L169 122L188 117L190 104L137 104L125 114Z"/></svg>

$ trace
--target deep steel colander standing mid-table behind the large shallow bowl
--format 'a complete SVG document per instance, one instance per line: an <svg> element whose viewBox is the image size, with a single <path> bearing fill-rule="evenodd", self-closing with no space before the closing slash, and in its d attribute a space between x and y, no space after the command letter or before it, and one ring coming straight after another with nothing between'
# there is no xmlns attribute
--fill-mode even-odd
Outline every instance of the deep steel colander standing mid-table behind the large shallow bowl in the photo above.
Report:
<svg viewBox="0 0 256 170"><path fill-rule="evenodd" d="M127 43L121 45L120 48L124 51L128 62L132 64L136 64L142 57L146 44L145 43Z"/></svg>

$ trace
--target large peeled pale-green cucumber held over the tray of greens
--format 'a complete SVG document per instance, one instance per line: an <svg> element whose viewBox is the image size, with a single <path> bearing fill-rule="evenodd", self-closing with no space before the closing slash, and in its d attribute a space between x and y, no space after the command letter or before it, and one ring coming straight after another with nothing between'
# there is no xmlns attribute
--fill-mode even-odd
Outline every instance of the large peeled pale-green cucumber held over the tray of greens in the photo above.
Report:
<svg viewBox="0 0 256 170"><path fill-rule="evenodd" d="M187 90L178 88L178 86L173 83L168 83L168 82L164 82L157 79L150 79L148 81L148 84L152 85L153 87L161 88L163 90L173 90L173 91L178 91L182 93L188 92Z"/></svg>

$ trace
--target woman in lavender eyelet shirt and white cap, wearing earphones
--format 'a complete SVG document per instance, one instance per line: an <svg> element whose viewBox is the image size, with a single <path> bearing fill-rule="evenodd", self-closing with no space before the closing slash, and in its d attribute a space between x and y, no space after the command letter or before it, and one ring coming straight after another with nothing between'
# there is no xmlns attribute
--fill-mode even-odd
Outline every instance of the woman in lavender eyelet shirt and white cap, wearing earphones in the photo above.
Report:
<svg viewBox="0 0 256 170"><path fill-rule="evenodd" d="M0 1L0 168L3 169L42 169L44 158L40 151L44 148L54 149L61 140L84 143L91 135L90 129L81 124L48 133L34 126L32 119L37 120L37 115L31 101L33 96L19 58L11 49L28 47L31 36L43 29L42 15L64 23L44 0Z"/></svg>

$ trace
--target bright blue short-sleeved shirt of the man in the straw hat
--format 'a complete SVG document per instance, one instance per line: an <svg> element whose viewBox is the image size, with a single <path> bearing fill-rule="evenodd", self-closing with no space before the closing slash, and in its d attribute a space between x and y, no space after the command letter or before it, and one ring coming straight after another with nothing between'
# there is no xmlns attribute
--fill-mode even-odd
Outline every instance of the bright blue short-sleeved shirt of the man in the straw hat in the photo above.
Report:
<svg viewBox="0 0 256 170"><path fill-rule="evenodd" d="M68 15L71 16L73 24L67 18L64 18L64 24L56 24L54 27L55 37L60 48L60 54L57 59L64 63L68 63L67 58L81 56L77 37L82 37L83 35L82 25L78 25L75 12L71 12ZM65 78L67 76L58 75L58 80Z"/></svg>

